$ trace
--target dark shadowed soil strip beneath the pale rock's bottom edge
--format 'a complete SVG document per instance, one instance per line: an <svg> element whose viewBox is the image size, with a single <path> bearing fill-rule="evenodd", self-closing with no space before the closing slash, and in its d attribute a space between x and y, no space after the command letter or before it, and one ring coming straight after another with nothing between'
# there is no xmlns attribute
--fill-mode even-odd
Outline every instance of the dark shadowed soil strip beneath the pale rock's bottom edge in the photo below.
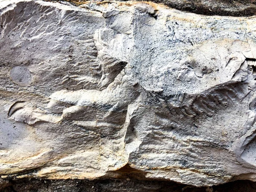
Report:
<svg viewBox="0 0 256 192"><path fill-rule="evenodd" d="M0 192L256 192L256 182L237 180L212 187L171 181L141 180L3 180Z"/></svg>

